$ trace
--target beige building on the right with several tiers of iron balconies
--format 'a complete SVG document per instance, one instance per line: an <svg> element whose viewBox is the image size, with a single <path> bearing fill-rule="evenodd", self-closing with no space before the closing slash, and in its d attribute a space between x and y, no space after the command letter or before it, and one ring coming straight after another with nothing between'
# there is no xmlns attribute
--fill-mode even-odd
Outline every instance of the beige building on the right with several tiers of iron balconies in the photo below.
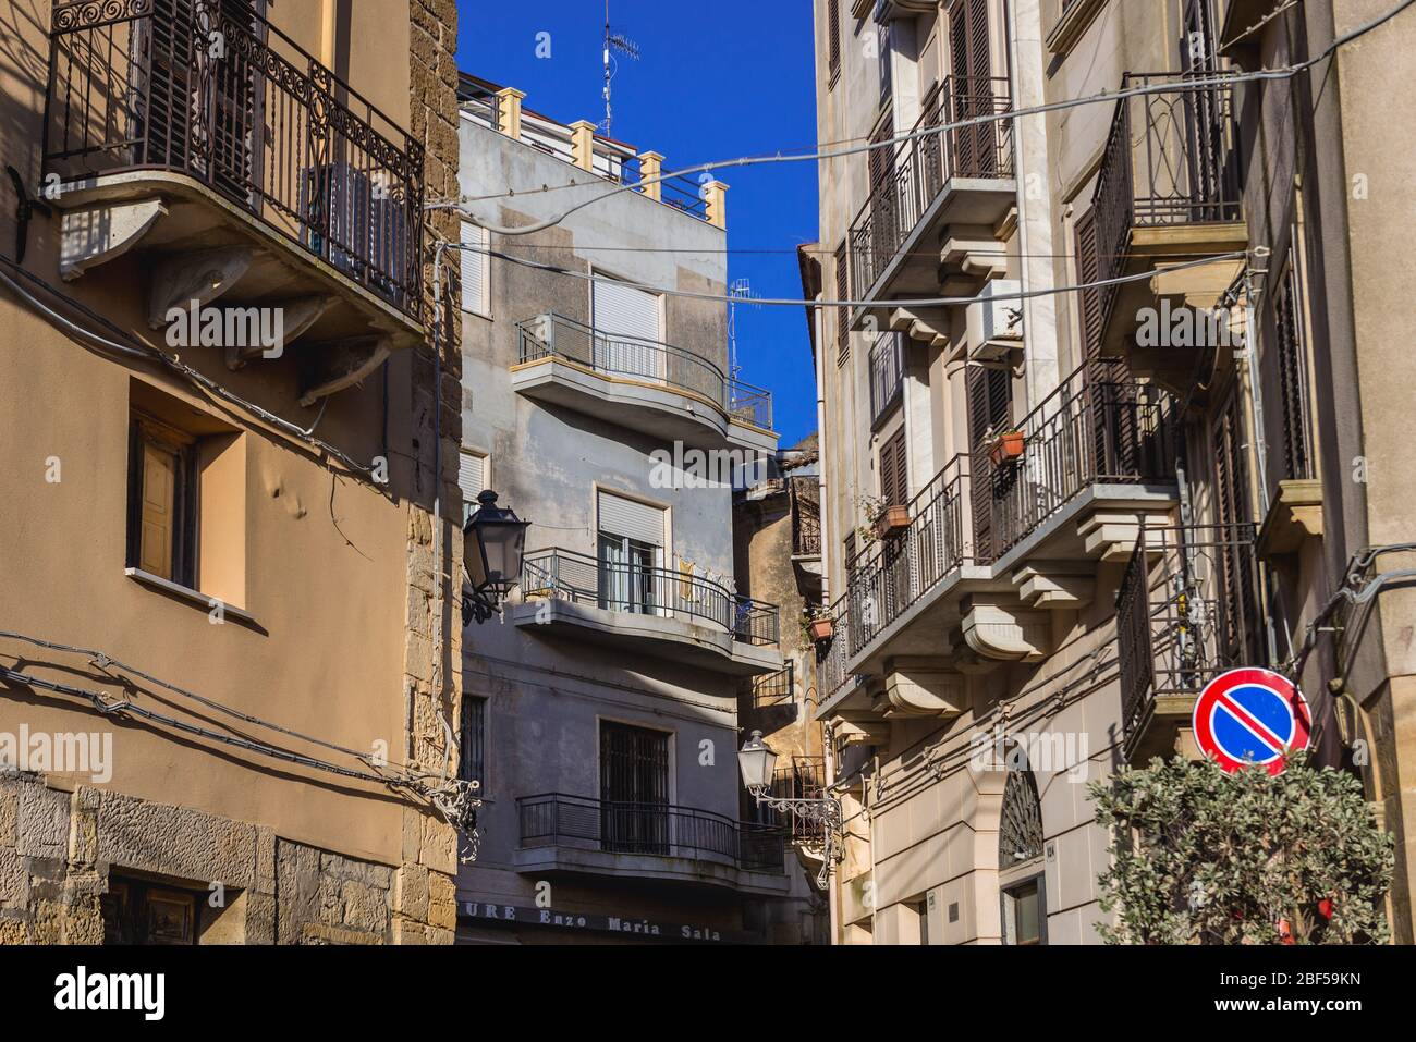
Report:
<svg viewBox="0 0 1416 1042"><path fill-rule="evenodd" d="M821 163L803 282L852 302L814 324L843 943L1096 943L1109 837L1085 782L1194 755L1202 684L1291 671L1310 630L1320 756L1405 842L1406 595L1376 595L1361 633L1313 624L1354 554L1410 539L1372 470L1403 486L1406 464L1368 440L1399 437L1383 239L1409 198L1389 132L1364 133L1413 27L1197 92L1187 75L1301 61L1386 6L1308 3L1242 41L1277 4L1065 7L816 4L821 142L1143 88ZM1231 314L1255 350L1157 348L1144 323L1168 309Z"/></svg>

